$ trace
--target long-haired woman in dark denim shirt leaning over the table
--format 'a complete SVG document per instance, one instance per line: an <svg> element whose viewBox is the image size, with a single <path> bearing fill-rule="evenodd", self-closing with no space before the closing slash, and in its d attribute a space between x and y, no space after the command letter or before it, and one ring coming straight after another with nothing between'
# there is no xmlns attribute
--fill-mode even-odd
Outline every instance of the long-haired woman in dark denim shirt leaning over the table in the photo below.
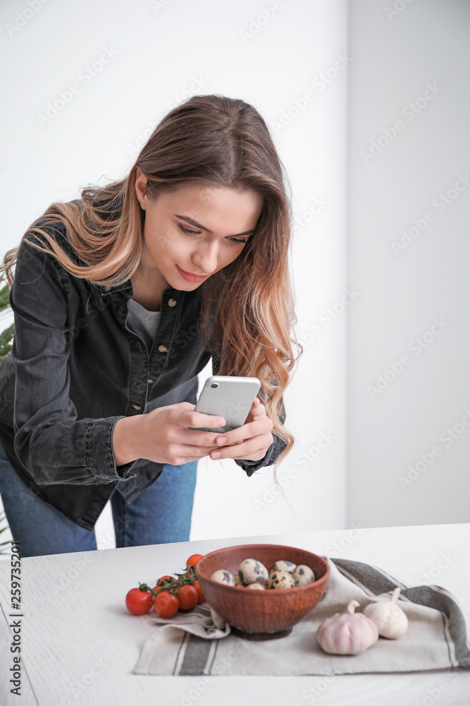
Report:
<svg viewBox="0 0 470 706"><path fill-rule="evenodd" d="M6 253L0 493L23 556L97 549L109 498L117 546L185 541L199 458L276 471L294 443L290 218L259 113L199 95L128 177L53 203ZM193 411L211 358L214 374L261 381L223 435L224 420Z"/></svg>

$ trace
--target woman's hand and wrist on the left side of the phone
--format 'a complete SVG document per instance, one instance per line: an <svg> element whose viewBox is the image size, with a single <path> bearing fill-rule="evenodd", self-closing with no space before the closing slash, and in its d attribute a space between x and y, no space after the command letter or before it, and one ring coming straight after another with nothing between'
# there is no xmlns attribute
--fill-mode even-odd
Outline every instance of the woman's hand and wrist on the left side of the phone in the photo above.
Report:
<svg viewBox="0 0 470 706"><path fill-rule="evenodd" d="M225 419L194 412L190 402L157 407L147 414L118 419L113 428L113 453L116 466L136 458L157 463L181 465L209 455ZM214 427L214 431L195 431L189 426Z"/></svg>

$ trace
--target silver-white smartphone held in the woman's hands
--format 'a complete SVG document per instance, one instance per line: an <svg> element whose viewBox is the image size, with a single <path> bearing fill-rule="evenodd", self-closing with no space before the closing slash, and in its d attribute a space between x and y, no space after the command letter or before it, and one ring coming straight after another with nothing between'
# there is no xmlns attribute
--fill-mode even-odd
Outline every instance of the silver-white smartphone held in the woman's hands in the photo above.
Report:
<svg viewBox="0 0 470 706"><path fill-rule="evenodd" d="M254 398L261 388L258 378L232 375L211 375L204 383L194 412L223 417L225 426L188 426L195 431L231 431L245 424Z"/></svg>

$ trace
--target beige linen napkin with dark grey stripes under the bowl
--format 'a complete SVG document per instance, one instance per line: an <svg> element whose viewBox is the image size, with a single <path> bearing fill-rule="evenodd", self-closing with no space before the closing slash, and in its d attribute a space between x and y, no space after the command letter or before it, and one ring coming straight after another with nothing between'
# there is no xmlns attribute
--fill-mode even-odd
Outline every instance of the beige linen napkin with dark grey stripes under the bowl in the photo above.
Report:
<svg viewBox="0 0 470 706"><path fill-rule="evenodd" d="M330 578L323 598L292 633L260 642L232 634L206 602L190 613L154 618L159 627L145 642L133 674L277 675L409 672L470 669L465 618L457 600L440 586L407 588L376 566L325 557ZM399 640L378 642L356 655L326 654L316 641L320 624L354 600L357 612L400 586L409 626Z"/></svg>

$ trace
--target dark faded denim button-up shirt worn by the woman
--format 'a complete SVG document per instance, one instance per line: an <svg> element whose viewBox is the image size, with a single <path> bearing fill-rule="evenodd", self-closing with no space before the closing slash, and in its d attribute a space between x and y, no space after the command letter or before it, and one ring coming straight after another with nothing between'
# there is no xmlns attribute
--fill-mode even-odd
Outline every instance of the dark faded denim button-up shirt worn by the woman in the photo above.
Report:
<svg viewBox="0 0 470 706"><path fill-rule="evenodd" d="M80 263L66 228L44 222L35 225ZM0 441L27 487L87 530L114 489L132 502L164 466L137 459L116 467L116 421L143 414L147 403L147 410L195 405L197 375L211 359L199 336L199 288L166 287L150 357L125 325L132 294L130 280L106 291L25 241L20 246L10 292L15 336L0 373ZM216 374L220 361L212 358ZM249 476L271 465L287 445L273 437L263 459L235 463Z"/></svg>

